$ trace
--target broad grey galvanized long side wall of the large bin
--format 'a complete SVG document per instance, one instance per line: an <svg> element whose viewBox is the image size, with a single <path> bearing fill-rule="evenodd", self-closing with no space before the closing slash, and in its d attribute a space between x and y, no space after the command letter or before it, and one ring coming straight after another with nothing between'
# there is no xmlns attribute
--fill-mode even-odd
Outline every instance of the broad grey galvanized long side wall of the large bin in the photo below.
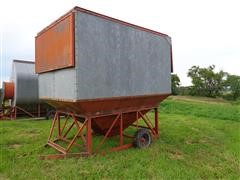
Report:
<svg viewBox="0 0 240 180"><path fill-rule="evenodd" d="M86 13L75 15L77 99L171 93L171 42Z"/></svg>

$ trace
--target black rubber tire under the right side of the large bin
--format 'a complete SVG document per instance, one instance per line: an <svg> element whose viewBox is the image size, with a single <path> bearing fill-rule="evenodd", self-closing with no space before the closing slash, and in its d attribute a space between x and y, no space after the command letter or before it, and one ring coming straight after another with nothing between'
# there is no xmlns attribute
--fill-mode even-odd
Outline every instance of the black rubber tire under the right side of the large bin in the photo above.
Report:
<svg viewBox="0 0 240 180"><path fill-rule="evenodd" d="M142 142L142 138L144 138L145 142ZM152 136L148 129L139 129L135 134L134 146L137 148L147 148L152 143Z"/></svg>

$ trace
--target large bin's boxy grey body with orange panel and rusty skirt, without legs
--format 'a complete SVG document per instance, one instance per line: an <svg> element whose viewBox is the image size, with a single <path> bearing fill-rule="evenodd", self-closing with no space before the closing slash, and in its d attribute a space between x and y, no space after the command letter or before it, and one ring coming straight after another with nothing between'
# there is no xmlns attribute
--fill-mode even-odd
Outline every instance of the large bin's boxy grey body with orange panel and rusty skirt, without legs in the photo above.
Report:
<svg viewBox="0 0 240 180"><path fill-rule="evenodd" d="M80 8L36 37L40 99L80 114L159 103L171 66L169 36Z"/></svg>

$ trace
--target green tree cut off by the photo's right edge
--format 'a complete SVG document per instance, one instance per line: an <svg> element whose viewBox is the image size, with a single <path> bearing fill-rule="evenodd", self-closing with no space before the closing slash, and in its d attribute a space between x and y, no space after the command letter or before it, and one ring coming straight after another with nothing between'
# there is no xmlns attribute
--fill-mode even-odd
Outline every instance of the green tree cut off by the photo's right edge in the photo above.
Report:
<svg viewBox="0 0 240 180"><path fill-rule="evenodd" d="M225 81L225 90L230 93L229 99L236 100L240 98L240 76L228 74Z"/></svg>

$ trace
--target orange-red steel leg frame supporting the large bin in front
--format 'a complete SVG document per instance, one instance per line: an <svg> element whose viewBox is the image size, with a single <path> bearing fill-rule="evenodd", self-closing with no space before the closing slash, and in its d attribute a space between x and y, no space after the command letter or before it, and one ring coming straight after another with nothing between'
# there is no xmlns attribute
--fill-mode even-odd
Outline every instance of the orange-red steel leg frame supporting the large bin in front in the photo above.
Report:
<svg viewBox="0 0 240 180"><path fill-rule="evenodd" d="M155 112L155 120L154 124L150 121L147 115L143 114L143 111L146 110L152 110L154 109ZM137 111L128 111L128 112L120 112L116 114L109 114L109 115L100 115L100 116L79 116L74 113L69 112L62 112L62 111L56 111L55 116L53 118L52 126L50 129L49 137L47 140L47 144L45 146L50 146L56 151L58 151L60 154L50 154L50 155L43 155L40 156L40 159L58 159L58 158L64 158L64 157L74 157L74 156L89 156L89 155L95 155L95 154L105 154L106 152L100 152L100 148L104 144L104 142L109 137L109 134L111 130L113 129L114 125L116 123L119 123L119 145L117 147L111 148L108 150L108 152L114 152L114 151L120 151L127 148L130 148L133 146L133 143L124 144L123 138L134 138L133 136L126 135L123 133L123 114L126 113L136 113L136 121L131 126L138 128L147 128L150 130L151 135L153 138L159 137L159 129L158 129L158 108L149 108L149 109L141 109ZM61 117L64 115L64 118L61 119ZM105 133L104 137L101 139L99 144L96 146L96 148L93 149L92 146L92 139L93 139L93 133L92 133L92 120L97 117L106 117L106 116L115 116L114 121L112 122L111 126L109 127L108 131ZM82 119L82 122L80 123L78 121L78 118ZM69 120L72 119L71 125L67 125ZM145 122L146 126L139 125L138 121L142 119ZM65 121L65 122L63 122ZM63 122L63 124L61 123ZM68 126L68 127L67 127ZM67 138L67 135L72 130L73 127L77 128L77 132L74 134L71 139ZM57 130L57 137L55 139L53 138L53 132L54 130ZM85 129L85 132L83 132ZM78 144L76 141L80 139L82 141L81 144ZM66 144L65 147L59 145L57 142L62 141ZM77 153L72 153L70 150L73 146L82 148Z"/></svg>

